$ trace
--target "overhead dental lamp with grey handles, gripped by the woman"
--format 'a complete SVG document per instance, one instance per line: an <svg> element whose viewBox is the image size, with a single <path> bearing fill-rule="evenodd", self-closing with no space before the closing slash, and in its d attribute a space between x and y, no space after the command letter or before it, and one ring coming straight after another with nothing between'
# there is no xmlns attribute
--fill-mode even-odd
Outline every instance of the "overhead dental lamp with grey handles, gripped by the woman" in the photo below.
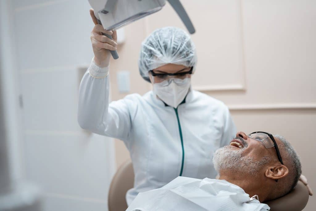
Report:
<svg viewBox="0 0 316 211"><path fill-rule="evenodd" d="M94 15L107 31L119 29L145 16L158 12L166 0L88 0ZM179 0L167 0L181 18L190 34L195 33L193 24ZM112 39L112 35L104 34ZM110 51L113 59L118 59L117 51Z"/></svg>

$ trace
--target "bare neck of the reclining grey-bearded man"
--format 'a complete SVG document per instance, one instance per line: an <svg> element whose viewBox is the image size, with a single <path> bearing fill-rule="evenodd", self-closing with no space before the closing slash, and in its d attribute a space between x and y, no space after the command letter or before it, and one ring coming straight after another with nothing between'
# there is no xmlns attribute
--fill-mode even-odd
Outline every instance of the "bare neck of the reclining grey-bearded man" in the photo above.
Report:
<svg viewBox="0 0 316 211"><path fill-rule="evenodd" d="M264 202L268 197L267 188L264 187L262 178L253 177L248 175L236 175L230 172L221 172L219 179L224 179L229 183L233 183L242 188L249 197L258 195L259 201Z"/></svg>

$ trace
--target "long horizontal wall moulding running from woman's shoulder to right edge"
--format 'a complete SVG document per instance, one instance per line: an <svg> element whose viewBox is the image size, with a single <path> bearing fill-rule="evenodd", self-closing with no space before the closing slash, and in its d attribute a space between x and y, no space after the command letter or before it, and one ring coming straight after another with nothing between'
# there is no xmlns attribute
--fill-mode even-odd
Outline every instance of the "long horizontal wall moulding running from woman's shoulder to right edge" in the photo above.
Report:
<svg viewBox="0 0 316 211"><path fill-rule="evenodd" d="M284 110L284 109L316 109L316 103L280 103L280 104L241 104L228 105L231 111L242 110Z"/></svg>

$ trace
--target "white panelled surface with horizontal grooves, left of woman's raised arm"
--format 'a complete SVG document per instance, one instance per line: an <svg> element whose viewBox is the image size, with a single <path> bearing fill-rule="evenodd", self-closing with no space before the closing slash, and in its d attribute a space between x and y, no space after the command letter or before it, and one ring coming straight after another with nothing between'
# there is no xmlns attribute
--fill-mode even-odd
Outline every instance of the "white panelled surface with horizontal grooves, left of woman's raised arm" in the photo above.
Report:
<svg viewBox="0 0 316 211"><path fill-rule="evenodd" d="M78 67L90 63L88 1L11 0L21 78L24 174L44 192L44 210L107 210L113 140L77 123Z"/></svg>

